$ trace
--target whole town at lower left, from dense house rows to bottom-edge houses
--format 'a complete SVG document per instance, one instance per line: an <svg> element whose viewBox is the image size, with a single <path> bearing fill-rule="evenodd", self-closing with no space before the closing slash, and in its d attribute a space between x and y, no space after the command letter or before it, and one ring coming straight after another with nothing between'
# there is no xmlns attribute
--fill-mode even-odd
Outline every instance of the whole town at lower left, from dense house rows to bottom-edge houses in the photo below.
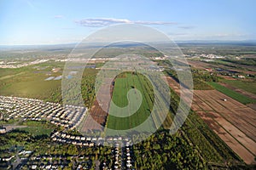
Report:
<svg viewBox="0 0 256 170"><path fill-rule="evenodd" d="M65 107L65 108L64 108ZM22 122L26 121L48 121L51 124L54 124L58 127L63 127L61 131L52 131L50 139L53 144L73 144L75 146L86 148L96 148L101 145L110 145L112 146L111 153L113 155L113 165L108 165L108 161L102 161L98 164L101 166L101 169L121 169L123 167L127 169L132 169L133 167L133 158L132 158L132 142L129 138L122 137L92 137L92 136L83 136L79 134L68 133L70 130L75 130L79 126L81 120L84 116L88 114L86 107L65 105L61 106L60 104L44 102L39 99L27 99L27 98L18 98L18 97L5 97L0 96L0 108L2 111L1 120L10 121L12 119L19 120ZM0 133L9 133L15 128L20 126L11 126L3 125L0 128ZM106 144L108 143L108 144ZM12 163L12 166L15 167L24 167L27 166L30 169L58 169L67 167L68 159L71 157L76 157L80 161L77 164L73 164L73 167L78 169L80 168L90 168L91 162L86 163L82 166L81 160L88 159L84 156L79 155L68 155L68 156L57 156L57 155L33 155L33 150L21 149L16 155L9 157L1 157L0 161L12 162L16 160L20 163ZM57 162L52 161L58 159ZM45 160L50 160L48 163L43 163ZM66 160L66 161L65 161ZM14 161L14 162L16 162ZM69 161L70 163L70 161ZM9 163L11 164L11 163Z"/></svg>

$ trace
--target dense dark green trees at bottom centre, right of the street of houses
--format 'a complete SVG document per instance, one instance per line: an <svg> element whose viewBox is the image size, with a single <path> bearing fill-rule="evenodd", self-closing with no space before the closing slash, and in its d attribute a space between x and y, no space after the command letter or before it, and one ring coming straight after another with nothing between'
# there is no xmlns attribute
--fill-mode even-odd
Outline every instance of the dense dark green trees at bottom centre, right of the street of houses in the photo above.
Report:
<svg viewBox="0 0 256 170"><path fill-rule="evenodd" d="M154 133L142 143L133 145L138 169L203 169L205 162L182 135L167 131Z"/></svg>

